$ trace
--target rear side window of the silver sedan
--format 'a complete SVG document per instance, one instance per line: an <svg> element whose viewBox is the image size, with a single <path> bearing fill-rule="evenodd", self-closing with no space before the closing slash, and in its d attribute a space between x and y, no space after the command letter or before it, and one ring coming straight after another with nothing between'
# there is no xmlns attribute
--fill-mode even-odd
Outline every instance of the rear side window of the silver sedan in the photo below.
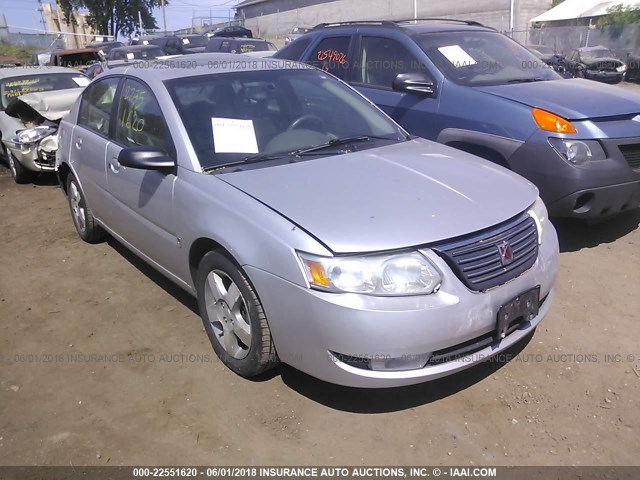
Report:
<svg viewBox="0 0 640 480"><path fill-rule="evenodd" d="M87 87L82 95L78 125L109 136L111 107L119 81L120 77L105 78Z"/></svg>

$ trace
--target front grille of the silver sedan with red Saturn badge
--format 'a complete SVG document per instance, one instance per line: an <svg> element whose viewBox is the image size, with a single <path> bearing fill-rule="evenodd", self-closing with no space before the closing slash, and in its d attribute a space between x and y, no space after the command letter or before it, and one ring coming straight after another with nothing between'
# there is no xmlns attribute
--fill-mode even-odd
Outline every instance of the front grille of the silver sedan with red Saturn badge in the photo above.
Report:
<svg viewBox="0 0 640 480"><path fill-rule="evenodd" d="M529 270L538 258L538 230L533 218L516 219L432 250L471 290L502 285Z"/></svg>

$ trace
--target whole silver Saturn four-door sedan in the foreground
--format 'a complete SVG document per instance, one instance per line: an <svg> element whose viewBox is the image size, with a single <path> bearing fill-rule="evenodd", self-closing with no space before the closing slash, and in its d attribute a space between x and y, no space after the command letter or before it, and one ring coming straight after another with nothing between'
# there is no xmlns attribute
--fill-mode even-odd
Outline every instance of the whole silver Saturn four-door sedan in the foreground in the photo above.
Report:
<svg viewBox="0 0 640 480"><path fill-rule="evenodd" d="M79 235L108 232L195 295L231 370L419 383L547 314L558 242L531 183L410 137L321 70L189 60L97 77L57 169Z"/></svg>

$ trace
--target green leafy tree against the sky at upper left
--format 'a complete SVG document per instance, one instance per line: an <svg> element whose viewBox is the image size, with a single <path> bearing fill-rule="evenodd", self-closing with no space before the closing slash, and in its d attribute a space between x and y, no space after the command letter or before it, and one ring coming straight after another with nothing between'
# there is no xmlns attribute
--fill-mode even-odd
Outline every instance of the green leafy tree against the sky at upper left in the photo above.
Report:
<svg viewBox="0 0 640 480"><path fill-rule="evenodd" d="M58 0L67 23L75 22L74 10L89 11L87 23L99 35L131 35L138 29L138 12L145 29L158 28L152 11L162 0ZM168 3L165 0L165 4Z"/></svg>

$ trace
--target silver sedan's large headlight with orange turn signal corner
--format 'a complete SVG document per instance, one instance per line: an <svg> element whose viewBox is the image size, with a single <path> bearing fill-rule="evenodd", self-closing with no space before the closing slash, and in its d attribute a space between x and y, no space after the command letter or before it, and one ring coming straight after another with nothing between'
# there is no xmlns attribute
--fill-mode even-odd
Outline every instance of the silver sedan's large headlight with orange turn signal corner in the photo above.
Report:
<svg viewBox="0 0 640 480"><path fill-rule="evenodd" d="M319 257L298 253L309 285L330 292L381 296L428 295L442 275L418 252Z"/></svg>

